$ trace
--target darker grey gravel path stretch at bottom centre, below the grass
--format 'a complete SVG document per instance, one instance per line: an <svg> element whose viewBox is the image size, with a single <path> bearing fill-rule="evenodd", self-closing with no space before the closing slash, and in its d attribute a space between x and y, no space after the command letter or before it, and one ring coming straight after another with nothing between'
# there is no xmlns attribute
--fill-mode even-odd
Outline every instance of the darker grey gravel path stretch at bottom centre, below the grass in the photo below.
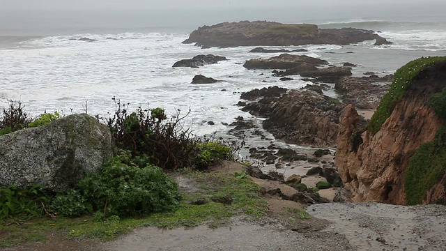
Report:
<svg viewBox="0 0 446 251"><path fill-rule="evenodd" d="M261 222L249 222L233 218L228 227L208 229L173 229L163 231L152 227L136 229L127 236L112 243L106 243L101 250L355 250L348 241L334 233L297 233L279 224L272 218Z"/></svg>

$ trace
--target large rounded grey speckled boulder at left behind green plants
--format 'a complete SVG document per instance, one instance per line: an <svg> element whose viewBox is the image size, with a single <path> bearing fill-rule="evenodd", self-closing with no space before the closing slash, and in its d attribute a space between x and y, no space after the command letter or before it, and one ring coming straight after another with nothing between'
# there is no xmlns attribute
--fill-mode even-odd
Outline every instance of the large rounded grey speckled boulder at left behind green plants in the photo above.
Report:
<svg viewBox="0 0 446 251"><path fill-rule="evenodd" d="M66 116L0 137L0 187L70 188L86 172L98 171L113 154L107 126L87 114Z"/></svg>

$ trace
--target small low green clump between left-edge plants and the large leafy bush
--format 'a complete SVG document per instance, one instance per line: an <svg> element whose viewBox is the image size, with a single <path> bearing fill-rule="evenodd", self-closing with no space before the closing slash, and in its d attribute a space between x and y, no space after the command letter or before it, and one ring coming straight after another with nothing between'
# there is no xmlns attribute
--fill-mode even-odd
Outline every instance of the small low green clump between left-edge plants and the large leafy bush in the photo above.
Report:
<svg viewBox="0 0 446 251"><path fill-rule="evenodd" d="M86 199L78 190L68 189L56 195L48 206L49 211L56 215L80 216L88 212Z"/></svg>

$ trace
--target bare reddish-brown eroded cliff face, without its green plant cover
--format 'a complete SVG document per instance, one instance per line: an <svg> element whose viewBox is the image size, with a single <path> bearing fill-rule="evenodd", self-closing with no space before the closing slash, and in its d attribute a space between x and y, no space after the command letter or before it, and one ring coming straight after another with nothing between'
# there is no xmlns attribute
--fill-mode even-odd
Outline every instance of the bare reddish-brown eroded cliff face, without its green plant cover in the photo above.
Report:
<svg viewBox="0 0 446 251"><path fill-rule="evenodd" d="M376 135L360 126L353 105L341 114L336 165L353 201L406 204L403 174L410 158L431 142L443 126L429 105L433 93L446 87L446 63L417 75ZM424 203L445 198L446 176L427 193Z"/></svg>

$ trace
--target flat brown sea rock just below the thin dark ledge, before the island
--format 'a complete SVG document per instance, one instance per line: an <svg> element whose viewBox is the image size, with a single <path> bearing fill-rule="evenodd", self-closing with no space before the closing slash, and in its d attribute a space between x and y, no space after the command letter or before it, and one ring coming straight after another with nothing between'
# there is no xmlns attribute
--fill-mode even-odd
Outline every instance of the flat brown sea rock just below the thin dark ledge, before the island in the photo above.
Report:
<svg viewBox="0 0 446 251"><path fill-rule="evenodd" d="M300 66L302 63L309 63L312 66L328 64L323 59L316 59L311 56L280 54L269 59L249 59L243 67L247 69L291 69Z"/></svg>

